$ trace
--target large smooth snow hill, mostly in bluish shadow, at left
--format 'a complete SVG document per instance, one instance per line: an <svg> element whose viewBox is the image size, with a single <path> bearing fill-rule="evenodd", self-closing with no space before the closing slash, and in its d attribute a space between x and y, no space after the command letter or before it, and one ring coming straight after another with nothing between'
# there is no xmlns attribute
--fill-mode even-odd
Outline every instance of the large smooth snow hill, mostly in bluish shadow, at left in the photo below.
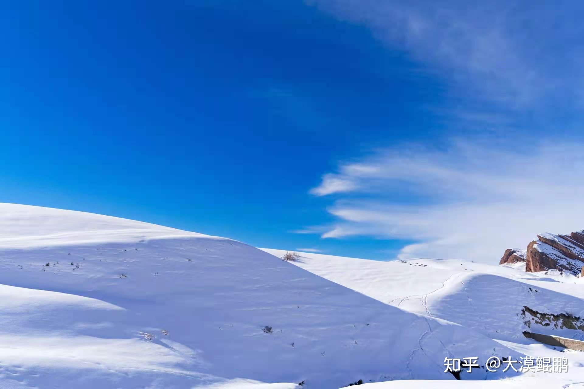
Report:
<svg viewBox="0 0 584 389"><path fill-rule="evenodd" d="M336 389L522 355L237 241L82 212L0 204L0 284L2 388Z"/></svg>

